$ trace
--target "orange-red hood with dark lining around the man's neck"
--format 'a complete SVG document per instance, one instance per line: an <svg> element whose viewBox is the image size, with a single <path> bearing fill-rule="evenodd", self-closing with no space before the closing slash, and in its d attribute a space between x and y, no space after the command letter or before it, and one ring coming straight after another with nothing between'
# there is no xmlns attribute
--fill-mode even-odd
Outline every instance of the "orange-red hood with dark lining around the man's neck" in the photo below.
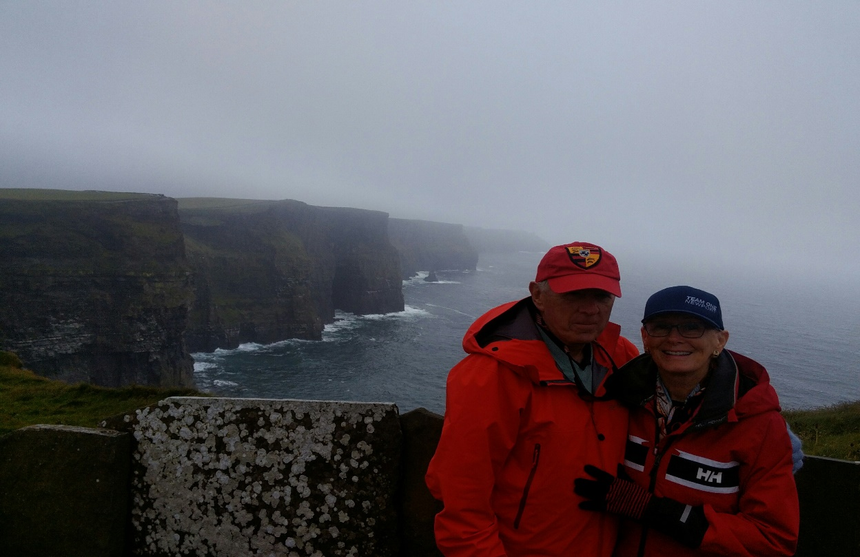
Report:
<svg viewBox="0 0 860 557"><path fill-rule="evenodd" d="M536 313L531 297L490 309L469 327L463 338L464 351L494 358L532 383L570 383L537 330ZM593 342L598 345L594 349L596 362L609 370L615 367L610 354L614 353L620 335L621 327L608 323ZM604 392L601 385L595 395Z"/></svg>

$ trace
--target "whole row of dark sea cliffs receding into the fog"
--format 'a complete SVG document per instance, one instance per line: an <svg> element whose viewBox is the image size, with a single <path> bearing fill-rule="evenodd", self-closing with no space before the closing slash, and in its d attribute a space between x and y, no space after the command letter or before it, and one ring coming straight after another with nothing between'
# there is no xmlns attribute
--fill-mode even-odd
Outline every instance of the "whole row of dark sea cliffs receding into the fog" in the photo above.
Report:
<svg viewBox="0 0 860 557"><path fill-rule="evenodd" d="M0 189L0 256L0 350L67 383L187 387L189 352L321 340L335 309L402 311L403 278L478 250L460 224L291 199Z"/></svg>

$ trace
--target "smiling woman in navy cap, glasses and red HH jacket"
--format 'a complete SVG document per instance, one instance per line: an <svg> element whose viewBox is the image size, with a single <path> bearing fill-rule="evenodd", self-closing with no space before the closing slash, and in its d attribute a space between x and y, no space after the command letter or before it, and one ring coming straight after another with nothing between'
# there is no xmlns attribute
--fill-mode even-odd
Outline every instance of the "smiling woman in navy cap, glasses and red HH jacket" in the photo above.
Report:
<svg viewBox="0 0 860 557"><path fill-rule="evenodd" d="M800 511L777 393L757 362L725 350L715 296L673 286L648 298L645 353L614 376L632 408L618 477L593 466L580 506L627 518L616 555L793 555Z"/></svg>

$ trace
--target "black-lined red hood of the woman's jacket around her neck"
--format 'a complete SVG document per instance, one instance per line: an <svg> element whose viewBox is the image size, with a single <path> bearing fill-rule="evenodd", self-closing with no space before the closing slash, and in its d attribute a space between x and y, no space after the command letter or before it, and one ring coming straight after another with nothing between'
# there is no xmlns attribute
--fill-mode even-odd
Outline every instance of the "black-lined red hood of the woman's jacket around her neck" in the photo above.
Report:
<svg viewBox="0 0 860 557"><path fill-rule="evenodd" d="M624 364L606 388L628 407L645 406L654 398L656 381L657 366L645 353ZM737 352L723 350L710 372L692 426L719 425L771 410L780 410L779 398L765 367Z"/></svg>

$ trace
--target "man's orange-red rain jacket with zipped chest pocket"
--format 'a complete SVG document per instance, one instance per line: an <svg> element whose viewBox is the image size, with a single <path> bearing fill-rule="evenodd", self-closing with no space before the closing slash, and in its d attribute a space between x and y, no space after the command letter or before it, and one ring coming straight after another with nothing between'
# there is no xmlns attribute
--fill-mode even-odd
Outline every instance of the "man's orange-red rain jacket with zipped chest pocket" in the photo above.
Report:
<svg viewBox="0 0 860 557"><path fill-rule="evenodd" d="M537 332L531 298L490 310L464 337L468 356L448 376L445 425L427 487L448 557L606 557L617 536L609 515L582 511L574 479L587 463L623 461L628 412L581 394ZM607 377L638 351L609 323L593 343Z"/></svg>

